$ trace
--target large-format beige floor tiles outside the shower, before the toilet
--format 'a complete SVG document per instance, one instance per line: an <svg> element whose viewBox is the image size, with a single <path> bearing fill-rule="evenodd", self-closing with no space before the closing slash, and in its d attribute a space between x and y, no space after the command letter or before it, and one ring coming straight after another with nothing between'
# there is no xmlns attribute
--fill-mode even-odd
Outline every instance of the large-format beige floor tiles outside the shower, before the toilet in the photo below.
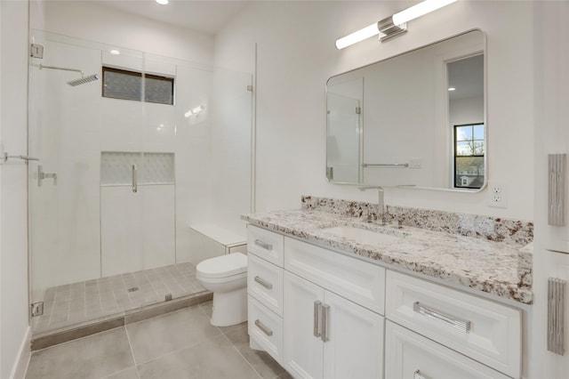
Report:
<svg viewBox="0 0 569 379"><path fill-rule="evenodd" d="M249 348L247 324L212 327L212 302L146 319L42 351L27 379L291 378Z"/></svg>

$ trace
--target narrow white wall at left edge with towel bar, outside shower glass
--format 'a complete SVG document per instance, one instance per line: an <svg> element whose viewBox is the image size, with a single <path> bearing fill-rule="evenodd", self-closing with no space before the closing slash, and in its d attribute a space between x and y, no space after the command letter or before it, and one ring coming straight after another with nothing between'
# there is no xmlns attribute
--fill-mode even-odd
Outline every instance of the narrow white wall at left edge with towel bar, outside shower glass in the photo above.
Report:
<svg viewBox="0 0 569 379"><path fill-rule="evenodd" d="M28 2L0 2L0 17L0 140L9 153L25 155ZM4 379L21 377L29 354L26 165L20 160L0 165L0 183L0 377Z"/></svg>

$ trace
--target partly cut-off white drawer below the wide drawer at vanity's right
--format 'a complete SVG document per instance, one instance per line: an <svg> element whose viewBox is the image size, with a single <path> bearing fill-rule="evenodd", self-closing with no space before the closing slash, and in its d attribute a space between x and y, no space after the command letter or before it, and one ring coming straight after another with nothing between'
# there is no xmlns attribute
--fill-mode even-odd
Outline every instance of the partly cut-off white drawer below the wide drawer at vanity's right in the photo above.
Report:
<svg viewBox="0 0 569 379"><path fill-rule="evenodd" d="M389 320L385 325L385 379L507 379L508 376Z"/></svg>

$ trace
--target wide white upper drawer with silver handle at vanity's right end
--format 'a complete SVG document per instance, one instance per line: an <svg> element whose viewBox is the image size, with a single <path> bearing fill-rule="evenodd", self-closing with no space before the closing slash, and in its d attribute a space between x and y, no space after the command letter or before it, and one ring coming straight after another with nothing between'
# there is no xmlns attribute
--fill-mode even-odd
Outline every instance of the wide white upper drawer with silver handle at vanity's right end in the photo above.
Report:
<svg viewBox="0 0 569 379"><path fill-rule="evenodd" d="M519 310L389 270L385 313L399 325L520 376Z"/></svg>

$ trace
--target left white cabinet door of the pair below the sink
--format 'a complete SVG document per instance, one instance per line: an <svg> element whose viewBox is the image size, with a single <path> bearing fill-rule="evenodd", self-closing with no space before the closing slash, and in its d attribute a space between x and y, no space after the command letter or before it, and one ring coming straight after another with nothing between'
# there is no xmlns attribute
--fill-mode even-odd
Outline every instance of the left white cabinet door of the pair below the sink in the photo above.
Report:
<svg viewBox="0 0 569 379"><path fill-rule="evenodd" d="M284 368L295 378L323 377L323 343L315 336L315 302L324 289L284 272Z"/></svg>

